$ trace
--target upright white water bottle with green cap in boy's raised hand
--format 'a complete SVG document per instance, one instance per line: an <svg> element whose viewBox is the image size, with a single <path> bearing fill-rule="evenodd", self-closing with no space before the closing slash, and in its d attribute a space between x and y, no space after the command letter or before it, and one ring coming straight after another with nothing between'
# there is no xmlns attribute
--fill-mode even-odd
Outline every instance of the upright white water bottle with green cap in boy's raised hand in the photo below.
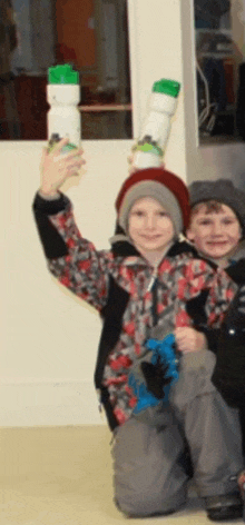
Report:
<svg viewBox="0 0 245 525"><path fill-rule="evenodd" d="M78 109L80 101L79 73L65 63L49 68L47 100L48 139L58 136L69 137L71 145L79 147L81 138L81 117Z"/></svg>

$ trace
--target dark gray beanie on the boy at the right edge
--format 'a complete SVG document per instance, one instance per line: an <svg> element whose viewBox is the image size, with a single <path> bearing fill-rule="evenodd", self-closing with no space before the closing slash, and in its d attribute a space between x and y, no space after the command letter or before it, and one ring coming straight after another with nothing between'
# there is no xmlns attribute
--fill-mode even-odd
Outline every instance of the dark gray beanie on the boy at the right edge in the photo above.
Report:
<svg viewBox="0 0 245 525"><path fill-rule="evenodd" d="M229 206L239 219L243 237L245 237L245 192L235 188L232 180L200 180L193 182L188 190L192 208L206 200L217 200Z"/></svg>

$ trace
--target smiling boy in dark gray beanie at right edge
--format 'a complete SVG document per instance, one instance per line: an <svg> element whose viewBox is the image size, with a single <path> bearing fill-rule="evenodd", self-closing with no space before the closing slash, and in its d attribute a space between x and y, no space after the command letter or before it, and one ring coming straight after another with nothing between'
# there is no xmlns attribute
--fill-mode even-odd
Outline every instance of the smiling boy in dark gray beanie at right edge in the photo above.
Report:
<svg viewBox="0 0 245 525"><path fill-rule="evenodd" d="M219 179L217 181L194 182L189 187L189 195L192 212L186 232L187 238L203 257L225 268L229 277L239 287L236 301L231 305L225 321L227 323L227 319L229 319L229 323L232 323L232 319L235 320L236 317L238 328L238 323L244 325L245 320L245 317L243 317L245 310L243 310L242 304L239 306L245 295L245 250L243 244L245 237L245 194L235 188L232 181ZM234 309L234 304L237 306L236 309ZM220 346L220 339L217 336L219 336L219 330L216 334L210 330L212 346L215 353L217 351L217 344ZM233 359L228 368L223 361L224 368L220 369L222 363L219 366L219 359L224 355L224 349L220 348L218 351L215 384L219 387L227 403L236 406L238 398L242 405L245 394L245 385L244 390L241 390L243 386L241 377L245 377L245 353L239 345L241 355L235 355L234 350L237 348L235 338L233 343ZM234 357L239 360L239 364ZM228 359L228 354L226 354L226 358ZM225 373L227 375L224 378Z"/></svg>

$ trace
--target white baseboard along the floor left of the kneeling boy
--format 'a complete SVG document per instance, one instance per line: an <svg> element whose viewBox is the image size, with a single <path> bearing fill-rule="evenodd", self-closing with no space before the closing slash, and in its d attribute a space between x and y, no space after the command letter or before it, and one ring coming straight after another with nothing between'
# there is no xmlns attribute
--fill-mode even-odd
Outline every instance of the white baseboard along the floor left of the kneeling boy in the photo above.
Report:
<svg viewBox="0 0 245 525"><path fill-rule="evenodd" d="M0 427L106 424L91 382L3 382L0 399Z"/></svg>

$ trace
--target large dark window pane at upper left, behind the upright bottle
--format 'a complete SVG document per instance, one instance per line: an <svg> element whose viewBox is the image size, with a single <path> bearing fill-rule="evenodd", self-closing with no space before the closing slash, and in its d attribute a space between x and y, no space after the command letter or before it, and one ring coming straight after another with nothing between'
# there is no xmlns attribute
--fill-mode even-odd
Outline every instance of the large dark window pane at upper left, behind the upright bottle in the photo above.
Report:
<svg viewBox="0 0 245 525"><path fill-rule="evenodd" d="M126 0L0 0L0 140L47 139L47 70L79 71L81 138L131 138Z"/></svg>

